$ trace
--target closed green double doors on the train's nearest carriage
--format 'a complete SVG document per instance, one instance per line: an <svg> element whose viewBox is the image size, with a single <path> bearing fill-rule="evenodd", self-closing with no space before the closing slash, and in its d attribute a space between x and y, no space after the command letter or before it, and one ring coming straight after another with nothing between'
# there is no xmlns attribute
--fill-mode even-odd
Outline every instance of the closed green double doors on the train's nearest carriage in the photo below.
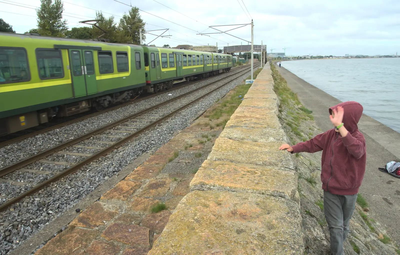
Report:
<svg viewBox="0 0 400 255"><path fill-rule="evenodd" d="M92 50L70 49L70 70L74 97L86 96L97 92L96 75Z"/></svg>

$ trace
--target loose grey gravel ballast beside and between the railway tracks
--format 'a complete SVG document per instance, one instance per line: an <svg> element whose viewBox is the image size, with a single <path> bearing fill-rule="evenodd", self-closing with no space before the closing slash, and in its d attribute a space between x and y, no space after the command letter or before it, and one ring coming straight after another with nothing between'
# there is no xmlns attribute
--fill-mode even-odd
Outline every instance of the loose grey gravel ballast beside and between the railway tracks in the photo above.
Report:
<svg viewBox="0 0 400 255"><path fill-rule="evenodd" d="M67 209L72 208L72 205L80 201L83 197L88 195L91 191L93 191L96 187L104 183L107 179L112 177L115 174L128 165L130 162L134 161L138 156L142 153L149 151L150 149L157 149L161 145L167 143L172 137L175 131L182 130L190 125L191 120L197 117L201 112L210 108L216 100L222 98L226 93L228 93L232 88L237 86L242 82L244 78L248 76L250 72L244 73L240 78L236 79L233 82L230 82L223 86L222 88L216 90L216 92L211 93L198 100L196 103L191 104L188 108L174 114L170 118L162 121L157 126L147 130L146 132L138 135L132 141L124 144L120 148L112 151L105 157L98 159L97 161L82 167L82 169L72 175L68 175L63 179L52 183L50 186L42 189L40 192L23 199L17 205L13 205L10 209L3 211L0 213L0 255L7 254L8 251L15 249L20 245L22 241L30 237L33 233L36 233L43 229L43 227L49 224L51 221L60 217L60 215L66 211ZM219 79L220 76L215 79ZM200 81L200 83L208 84L210 80ZM224 81L221 81L221 83ZM201 84L196 84L196 86L202 86ZM195 86L195 85L191 85ZM190 87L190 86L188 86ZM180 94L186 93L193 88L182 88L182 90L186 90L184 92L180 91ZM175 93L177 91L174 91ZM160 95L160 97L168 97L168 95ZM169 99L169 98L167 98ZM155 98L151 100L156 101ZM161 100L161 99L160 99ZM153 102L152 104L157 104L160 101ZM104 114L104 116L96 116L92 119L96 120L85 120L80 122L79 124L72 124L70 126L74 127L65 127L62 130L57 129L50 131L48 133L38 135L40 137L31 137L32 144L34 144L31 149L46 149L48 144L44 145L44 141L42 139L52 140L54 143L51 146L54 146L57 142L62 142L60 137L61 133L63 137L67 137L66 139L70 139L69 137L74 137L76 135L81 135L86 133L89 130L100 127L101 122L112 122L119 118L123 118L129 114L132 114L135 111L142 110L144 108L148 108L151 106L150 102L139 102L141 106L138 104L126 106L125 110L118 109L113 112L108 112ZM139 109L139 107L142 107ZM128 109L127 109L128 108ZM130 109L129 109L130 108ZM127 113L128 112L128 113ZM91 127L90 125L98 125L96 127ZM78 133L81 130L82 133ZM78 131L79 130L79 131ZM54 138L57 137L57 138ZM98 139L97 139L98 138ZM100 137L94 137L96 140L100 140ZM111 139L111 138L109 138ZM117 139L118 140L118 139ZM99 143L94 142L85 142L86 146L95 146L95 147L104 147L105 145L101 145ZM24 145L25 146L25 145ZM9 147L9 146L7 146ZM20 154L14 154L14 157L8 158L8 163L13 162L18 155L30 155L28 153L23 153L22 145L16 146L14 148L18 148ZM78 148L75 148L78 149ZM7 150L2 148L2 152L0 153L3 156ZM31 150L32 152L32 150ZM3 154L2 154L3 153ZM7 154L10 151L7 152ZM36 152L37 153L37 152ZM77 156L70 155L52 155L50 156L52 159L57 161L63 161L66 157L68 159L74 160L78 159ZM49 158L50 158L49 157ZM75 158L74 158L75 157ZM18 158L19 160L20 158ZM64 160L65 161L65 160ZM30 165L30 169L42 170L42 171L62 171L65 169L65 165L46 165L39 162L35 162ZM24 173L24 178L32 179L34 173ZM37 176L37 174L36 174ZM0 183L0 188L4 193L5 189L12 189L14 195L18 191L22 191L23 188L26 190L26 186L14 186L8 183ZM8 192L9 193L9 192ZM4 193L6 195L6 193ZM2 199L3 200L3 199ZM32 247L32 250L38 249L39 247Z"/></svg>

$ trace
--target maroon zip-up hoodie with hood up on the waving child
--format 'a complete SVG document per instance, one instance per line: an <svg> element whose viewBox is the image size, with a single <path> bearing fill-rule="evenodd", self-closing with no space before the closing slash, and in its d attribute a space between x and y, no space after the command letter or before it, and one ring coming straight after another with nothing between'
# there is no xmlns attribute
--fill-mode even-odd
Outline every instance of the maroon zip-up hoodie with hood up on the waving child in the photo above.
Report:
<svg viewBox="0 0 400 255"><path fill-rule="evenodd" d="M357 126L363 108L361 104L349 101L329 108L329 113L338 106L344 109L343 123L348 134L341 137L334 128L330 129L309 141L293 145L292 153L322 150L322 189L336 195L354 195L361 186L366 166L366 142Z"/></svg>

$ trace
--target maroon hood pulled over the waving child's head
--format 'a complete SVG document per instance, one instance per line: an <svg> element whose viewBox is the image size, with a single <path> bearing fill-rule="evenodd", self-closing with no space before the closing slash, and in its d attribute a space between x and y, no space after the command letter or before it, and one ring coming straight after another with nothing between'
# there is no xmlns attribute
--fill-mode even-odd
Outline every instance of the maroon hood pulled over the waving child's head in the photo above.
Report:
<svg viewBox="0 0 400 255"><path fill-rule="evenodd" d="M330 107L329 114L332 114L332 110L338 108L339 106L342 106L344 110L343 124L346 127L346 129L350 133L358 131L357 123L362 115L362 110L363 110L362 105L354 101L343 102L336 106Z"/></svg>

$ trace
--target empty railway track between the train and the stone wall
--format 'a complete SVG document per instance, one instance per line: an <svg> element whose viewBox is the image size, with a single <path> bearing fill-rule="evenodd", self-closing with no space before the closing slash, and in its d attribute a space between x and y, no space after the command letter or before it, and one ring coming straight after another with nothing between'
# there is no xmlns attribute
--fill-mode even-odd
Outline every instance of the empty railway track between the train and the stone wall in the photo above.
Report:
<svg viewBox="0 0 400 255"><path fill-rule="evenodd" d="M257 66L258 65L255 67ZM140 135L153 126L156 126L158 123L162 122L162 120L176 114L180 110L183 110L190 104L204 98L204 96L218 90L229 82L236 80L236 78L242 76L248 72L248 70L250 70L250 67L246 67L220 80L210 82L180 96L112 122L74 139L70 139L12 165L1 168L0 182L6 182L17 186L26 186L28 187L28 190L15 197L7 197L8 200L4 201L4 203L0 205L0 211L3 211L14 203L17 203L24 197L36 193L46 185L78 171L82 166L103 157L111 151L114 151L130 139ZM234 76L234 78L230 78L231 76ZM217 84L221 80L225 79L227 81L223 84ZM29 165L31 164L34 167L29 168ZM42 168L38 170L38 165L52 165L53 168L58 168L60 171L42 171ZM43 178L43 176L47 176L47 179L38 184L21 181L24 177L18 177L20 175L14 173L16 170L18 170L21 175L28 172L42 176L42 179L46 179L46 177ZM3 199L6 198L3 197Z"/></svg>

